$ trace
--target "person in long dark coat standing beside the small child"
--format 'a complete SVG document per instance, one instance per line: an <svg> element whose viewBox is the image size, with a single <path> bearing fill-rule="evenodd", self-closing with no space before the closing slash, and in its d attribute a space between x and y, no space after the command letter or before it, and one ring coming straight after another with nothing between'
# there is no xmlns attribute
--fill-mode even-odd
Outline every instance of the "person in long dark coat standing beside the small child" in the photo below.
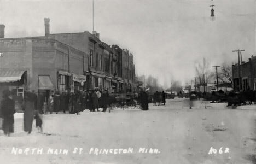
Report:
<svg viewBox="0 0 256 164"><path fill-rule="evenodd" d="M34 109L37 107L37 96L34 93L25 93L24 102L24 131L28 134L32 131Z"/></svg>

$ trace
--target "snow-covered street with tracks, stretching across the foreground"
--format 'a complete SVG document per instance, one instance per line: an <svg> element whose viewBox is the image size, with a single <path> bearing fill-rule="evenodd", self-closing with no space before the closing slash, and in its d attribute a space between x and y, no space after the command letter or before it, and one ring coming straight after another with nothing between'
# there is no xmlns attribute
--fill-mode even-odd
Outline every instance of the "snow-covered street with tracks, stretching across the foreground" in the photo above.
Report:
<svg viewBox="0 0 256 164"><path fill-rule="evenodd" d="M189 109L188 99L176 98L168 99L166 106L150 104L148 111L85 110L81 115L42 115L43 134L33 127L30 135L22 131L23 115L18 113L15 133L5 137L0 132L0 163L255 162L255 106L231 109L225 103L193 104ZM216 154L208 154L211 147L217 150ZM37 148L34 154L33 148ZM90 151L92 148L94 151ZM121 150L129 148L132 153ZM139 152L140 148L148 148L147 153L146 149ZM149 153L150 148L153 153ZM224 153L226 148L229 152ZM63 149L68 153L63 154ZM100 149L108 149L108 154L100 154ZM117 154L109 153L111 149L117 149Z"/></svg>

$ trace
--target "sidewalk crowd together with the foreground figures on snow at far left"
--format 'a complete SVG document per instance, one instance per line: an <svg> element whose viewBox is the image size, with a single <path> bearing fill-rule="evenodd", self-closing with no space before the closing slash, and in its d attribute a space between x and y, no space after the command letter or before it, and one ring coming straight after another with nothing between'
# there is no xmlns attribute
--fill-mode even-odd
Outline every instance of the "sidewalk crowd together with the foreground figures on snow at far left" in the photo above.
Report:
<svg viewBox="0 0 256 164"><path fill-rule="evenodd" d="M42 119L39 114L46 114L48 111L50 114L53 112L63 113L68 111L71 114L77 113L84 109L89 109L90 112L99 111L103 108L102 112L106 112L108 107L109 94L107 90L90 90L89 92L75 92L68 93L67 91L61 95L53 91L50 93L49 98L45 98L45 95L39 93L37 96L34 91L25 92L24 101L22 101L21 108L24 111L24 131L28 134L32 131L33 119L36 119L36 127L40 127L42 131ZM3 91L3 99L0 107L0 118L2 118L2 130L4 134L9 136L14 132L14 114L15 101L9 90ZM1 126L0 126L1 127Z"/></svg>

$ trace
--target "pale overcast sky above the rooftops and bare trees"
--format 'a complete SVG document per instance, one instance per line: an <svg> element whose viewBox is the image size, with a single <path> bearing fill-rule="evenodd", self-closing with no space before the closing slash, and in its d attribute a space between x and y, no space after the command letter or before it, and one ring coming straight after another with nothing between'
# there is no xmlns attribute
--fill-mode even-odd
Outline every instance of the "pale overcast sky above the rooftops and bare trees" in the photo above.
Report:
<svg viewBox="0 0 256 164"><path fill-rule="evenodd" d="M212 66L231 65L232 50L245 49L244 61L254 53L254 0L213 3L215 21L210 0L95 0L95 30L133 53L137 74L167 86L174 79L189 83L202 57ZM0 0L5 37L43 36L44 17L51 33L91 32L92 0Z"/></svg>

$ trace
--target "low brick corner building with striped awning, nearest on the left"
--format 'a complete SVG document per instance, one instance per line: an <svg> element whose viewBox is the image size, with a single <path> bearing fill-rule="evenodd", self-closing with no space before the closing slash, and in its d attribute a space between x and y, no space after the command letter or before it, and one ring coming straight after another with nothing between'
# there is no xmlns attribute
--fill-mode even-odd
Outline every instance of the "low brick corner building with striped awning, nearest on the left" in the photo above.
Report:
<svg viewBox="0 0 256 164"><path fill-rule="evenodd" d="M2 38L0 50L0 93L83 89L88 57L80 50L45 37Z"/></svg>

